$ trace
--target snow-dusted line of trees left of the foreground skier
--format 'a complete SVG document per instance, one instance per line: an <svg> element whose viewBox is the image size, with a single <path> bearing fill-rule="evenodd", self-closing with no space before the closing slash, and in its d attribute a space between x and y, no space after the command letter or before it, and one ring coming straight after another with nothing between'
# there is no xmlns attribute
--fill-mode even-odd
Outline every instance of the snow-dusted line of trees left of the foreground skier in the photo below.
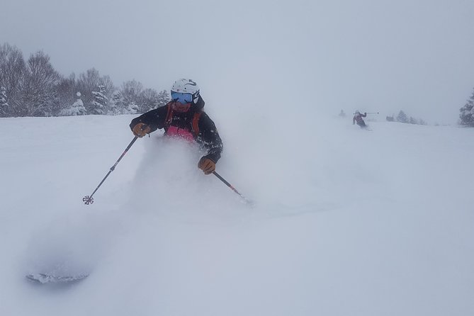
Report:
<svg viewBox="0 0 474 316"><path fill-rule="evenodd" d="M169 99L135 79L116 87L94 68L64 77L43 51L25 60L17 47L0 45L0 117L145 113Z"/></svg>

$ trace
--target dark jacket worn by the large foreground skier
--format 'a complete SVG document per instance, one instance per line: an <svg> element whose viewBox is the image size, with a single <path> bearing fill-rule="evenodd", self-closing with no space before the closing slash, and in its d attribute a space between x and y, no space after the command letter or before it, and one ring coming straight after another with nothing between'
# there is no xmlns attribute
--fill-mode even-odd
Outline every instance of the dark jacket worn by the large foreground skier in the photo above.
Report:
<svg viewBox="0 0 474 316"><path fill-rule="evenodd" d="M198 142L198 144L208 149L208 154L205 155L205 157L213 160L213 162L218 162L224 147L222 145L222 140L220 139L218 130L215 128L213 120L211 120L209 116L203 111L203 98L199 96L198 102L193 104L186 113L178 113L173 111L171 113L171 121L169 121L169 125L167 125L169 106L171 106L171 102L169 102L166 106L161 106L152 111L148 111L137 118L134 118L130 123L130 128L133 130L133 127L137 125L137 123L145 123L151 128L150 132L164 128L166 134L169 126L176 126L176 128L188 130L189 132L193 132L194 139L196 142ZM200 112L201 115L199 115L198 120L198 132L196 133L193 131L193 118L195 113Z"/></svg>

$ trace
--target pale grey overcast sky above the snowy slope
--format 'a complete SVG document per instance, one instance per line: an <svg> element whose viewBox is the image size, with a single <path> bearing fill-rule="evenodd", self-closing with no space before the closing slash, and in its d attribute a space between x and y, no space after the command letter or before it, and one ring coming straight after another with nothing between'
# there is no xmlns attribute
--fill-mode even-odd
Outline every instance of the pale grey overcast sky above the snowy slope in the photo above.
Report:
<svg viewBox="0 0 474 316"><path fill-rule="evenodd" d="M456 123L474 87L472 0L3 0L0 30L64 75L189 77L214 106Z"/></svg>

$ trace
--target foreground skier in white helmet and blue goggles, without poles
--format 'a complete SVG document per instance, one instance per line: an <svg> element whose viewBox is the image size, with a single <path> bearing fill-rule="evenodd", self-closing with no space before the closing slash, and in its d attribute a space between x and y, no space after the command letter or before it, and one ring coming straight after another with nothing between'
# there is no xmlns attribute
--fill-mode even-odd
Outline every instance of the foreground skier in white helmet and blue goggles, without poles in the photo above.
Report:
<svg viewBox="0 0 474 316"><path fill-rule="evenodd" d="M198 162L204 174L212 174L223 145L213 120L203 111L204 100L191 79L178 79L171 86L167 105L134 118L130 129L137 137L164 128L164 135L196 141L208 150Z"/></svg>

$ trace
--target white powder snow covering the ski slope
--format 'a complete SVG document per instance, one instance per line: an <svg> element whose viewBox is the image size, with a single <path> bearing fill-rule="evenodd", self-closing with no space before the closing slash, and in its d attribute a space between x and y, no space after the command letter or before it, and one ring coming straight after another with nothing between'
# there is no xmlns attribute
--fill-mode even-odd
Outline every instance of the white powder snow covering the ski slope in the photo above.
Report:
<svg viewBox="0 0 474 316"><path fill-rule="evenodd" d="M84 205L136 115L1 118L0 315L474 315L474 129L214 112L253 207L159 131Z"/></svg>

